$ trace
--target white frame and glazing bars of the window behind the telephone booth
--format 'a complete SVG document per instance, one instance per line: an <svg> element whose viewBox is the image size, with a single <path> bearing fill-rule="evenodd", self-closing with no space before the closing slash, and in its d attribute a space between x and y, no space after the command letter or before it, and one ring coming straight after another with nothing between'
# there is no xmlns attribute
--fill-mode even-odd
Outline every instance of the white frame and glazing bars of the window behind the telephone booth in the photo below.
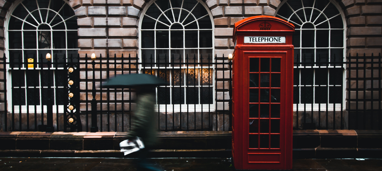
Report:
<svg viewBox="0 0 382 171"><path fill-rule="evenodd" d="M314 4L317 2L318 0L314 0ZM329 22L329 20L330 19L332 19L332 18L335 18L336 16L338 16L338 15L335 15L335 16L333 16L333 17L331 17L331 18L327 18L327 16L323 13L323 11L325 10L325 8L327 8L327 6L330 4L330 3L332 3L336 8L337 8L337 10L339 11L339 16L341 16L341 18L342 18L342 22L343 22L343 29L332 29L332 28L330 28L330 22ZM290 8L290 10L292 10L293 11L293 13L289 16L289 18L285 18L285 17L283 17L283 16L280 16L280 15L278 15L277 13L278 13L278 10L280 10L280 8L283 6L283 5L288 5L288 7ZM298 54L299 54L299 60L300 60L300 62L302 62L303 61L303 57L302 57L302 49L304 49L303 47L302 47L302 42L301 42L301 40L302 40L302 31L301 30L314 30L314 32L315 32L315 38L314 38L314 47L308 47L308 48L305 48L305 49L314 49L314 56L316 56L316 50L317 49L320 49L320 48L322 48L322 49L329 49L329 54L330 54L330 50L331 49L335 49L335 48L342 48L343 49L343 61L346 61L346 29L347 29L347 27L346 27L346 22L345 22L345 15L344 15L344 13L343 13L343 11L341 10L341 8L338 8L338 4L336 3L336 2L334 2L334 1L332 1L332 0L329 0L329 3L325 6L325 8L324 8L324 10L322 10L322 11L320 11L320 10L318 10L317 8L314 8L314 5L313 5L313 7L304 7L304 4L303 4L303 2L302 2L302 0L301 0L301 5L303 6L303 8L300 8L300 9L298 9L298 10L293 10L293 8L291 8L291 6L288 4L288 0L285 0L285 1L283 1L282 3L280 3L280 5L278 6L278 8L277 8L277 10L276 10L276 12L275 12L275 17L279 17L279 18L282 18L282 19L284 19L284 20L286 20L286 21L288 21L288 22L290 22L290 23L292 23L292 24L294 24L294 25L297 25L297 26L299 26L300 27L300 29L295 29L295 30L300 30L300 47L298 47L298 48L296 48L295 47L295 53L297 52ZM310 9L312 9L312 11L313 10L317 10L317 11L320 11L320 15L323 15L323 16L325 16L325 18L326 18L326 20L325 21L323 21L323 22L321 22L321 23L324 23L324 22L328 22L329 23L329 29L317 29L316 28L316 25L314 25L313 23L314 23L314 21L316 21L316 19L318 19L319 18L319 16L317 16L317 18L314 20L314 21L311 21L311 19L312 19L312 13L311 13L311 16L309 17L309 21L306 21L306 22L304 22L298 15L296 15L297 17L298 17L298 19L301 21L301 23L311 23L312 25L314 25L314 29L302 29L302 26L303 26L303 24L297 24L297 23L295 23L295 22L293 22L293 21L291 21L290 19L291 19L291 17L293 16L293 15L295 15L296 14L296 12L297 11L299 11L299 10L302 10L302 9L306 9L306 8L310 8ZM306 18L306 14L305 14L305 11L304 11L304 16L305 16L305 18ZM321 23L319 23L319 24L321 24ZM317 24L317 25L319 25L319 24ZM329 46L328 47L316 47L316 31L317 30L329 30ZM330 47L330 30L343 30L343 47ZM341 56L342 57L342 56ZM317 58L315 57L314 58L314 61L316 61L317 60ZM330 61L331 59L329 58L329 61ZM298 105L298 109L299 109L299 111L301 111L301 109L302 110L306 110L306 111L326 111L326 110L328 110L328 111L333 111L333 110L335 110L335 111L340 111L340 110L345 110L346 109L346 99L345 99L345 96L346 96L346 65L344 64L343 66L316 66L316 65L314 65L314 66L294 66L293 68L313 68L314 70L313 70L313 84L312 85L306 85L306 87L319 87L318 85L315 85L315 76L316 76L316 73L315 73L315 71L316 71L316 68L328 68L328 81L327 81L327 84L325 84L325 85L322 85L322 86L326 86L326 85L328 85L329 84L329 68L344 68L343 69L343 73L342 73L342 78L343 78L343 80L342 80L342 87L343 87L343 89L342 89L342 104L341 103L335 103L335 106L334 106L334 104L333 103L329 103L329 87L332 87L333 85L328 85L328 90L327 90L327 92L328 92L328 96L327 96L327 103L321 103L321 104L318 104L318 103L316 103L315 102L315 100L316 100L316 98L315 98L315 88L313 89L313 109L312 109L312 104L311 103L301 103L301 87L304 87L303 85L301 85L301 70L299 70L300 71L300 73L299 73L299 85L293 85L293 87L299 87L299 103L298 104L295 104L295 103L293 103L293 111L297 111L297 105ZM341 85L335 85L335 86L341 86ZM326 106L326 104L328 104L328 106ZM341 108L341 105L342 105L342 108ZM320 107L320 109L319 109L319 107ZM327 108L328 107L328 108Z"/></svg>

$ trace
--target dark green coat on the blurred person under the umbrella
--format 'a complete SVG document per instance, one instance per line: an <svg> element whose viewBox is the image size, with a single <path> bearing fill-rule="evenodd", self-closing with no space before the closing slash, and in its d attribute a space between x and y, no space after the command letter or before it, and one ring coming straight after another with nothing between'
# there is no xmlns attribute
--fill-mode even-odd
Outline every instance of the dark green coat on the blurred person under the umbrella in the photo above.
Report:
<svg viewBox="0 0 382 171"><path fill-rule="evenodd" d="M143 144L150 147L155 144L157 136L154 116L155 95L142 93L137 96L137 106L132 116L128 139L141 137Z"/></svg>

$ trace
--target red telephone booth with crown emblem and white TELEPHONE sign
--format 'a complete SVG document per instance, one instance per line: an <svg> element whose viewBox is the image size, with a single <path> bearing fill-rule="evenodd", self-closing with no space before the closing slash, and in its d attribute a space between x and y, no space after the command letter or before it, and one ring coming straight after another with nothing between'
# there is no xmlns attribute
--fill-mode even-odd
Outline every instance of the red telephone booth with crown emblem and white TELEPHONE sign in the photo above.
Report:
<svg viewBox="0 0 382 171"><path fill-rule="evenodd" d="M272 16L235 23L232 156L236 169L292 169L293 24Z"/></svg>

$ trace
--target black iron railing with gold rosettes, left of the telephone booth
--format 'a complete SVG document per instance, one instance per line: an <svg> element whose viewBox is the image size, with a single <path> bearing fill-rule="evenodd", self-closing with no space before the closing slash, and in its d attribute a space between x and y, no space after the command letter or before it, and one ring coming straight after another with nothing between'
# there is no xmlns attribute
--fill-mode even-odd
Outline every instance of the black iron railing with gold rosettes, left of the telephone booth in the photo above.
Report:
<svg viewBox="0 0 382 171"><path fill-rule="evenodd" d="M156 88L160 131L230 130L231 79L225 75L231 75L226 73L231 62L222 57L144 56L139 61L138 56L86 54L27 59L3 61L8 66L3 81L10 80L11 87L4 86L4 92L12 96L7 102L5 94L11 109L5 108L4 131L129 131L134 90L101 87L118 74L133 73L154 74L170 84Z"/></svg>

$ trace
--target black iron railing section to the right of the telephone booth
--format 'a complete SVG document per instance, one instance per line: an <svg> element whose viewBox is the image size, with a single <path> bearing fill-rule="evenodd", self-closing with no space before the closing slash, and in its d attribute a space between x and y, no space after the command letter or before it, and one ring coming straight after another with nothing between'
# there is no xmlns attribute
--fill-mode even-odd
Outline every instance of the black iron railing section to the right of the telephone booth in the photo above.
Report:
<svg viewBox="0 0 382 171"><path fill-rule="evenodd" d="M296 54L294 129L382 129L381 63L380 53Z"/></svg>

